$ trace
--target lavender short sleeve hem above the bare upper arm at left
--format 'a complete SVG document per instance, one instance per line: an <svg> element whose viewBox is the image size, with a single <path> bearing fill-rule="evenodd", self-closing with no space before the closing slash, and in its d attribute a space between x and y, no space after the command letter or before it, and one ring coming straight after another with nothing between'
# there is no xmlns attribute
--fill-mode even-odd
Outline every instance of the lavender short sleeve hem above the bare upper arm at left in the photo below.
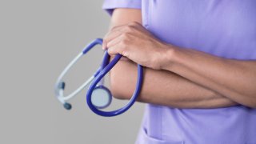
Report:
<svg viewBox="0 0 256 144"><path fill-rule="evenodd" d="M109 14L112 14L115 8L141 9L142 0L104 0L102 8Z"/></svg>

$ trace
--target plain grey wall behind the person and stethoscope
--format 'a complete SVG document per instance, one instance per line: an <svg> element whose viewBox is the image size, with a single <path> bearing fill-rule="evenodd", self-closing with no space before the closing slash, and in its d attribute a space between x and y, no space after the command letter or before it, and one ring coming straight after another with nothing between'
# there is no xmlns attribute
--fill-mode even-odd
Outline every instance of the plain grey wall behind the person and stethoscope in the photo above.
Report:
<svg viewBox="0 0 256 144"><path fill-rule="evenodd" d="M86 90L71 100L71 111L54 98L58 74L87 42L108 29L110 16L102 2L0 0L0 143L134 143L143 104L102 118L86 106ZM66 78L67 91L89 78L101 58L98 46L78 62Z"/></svg>

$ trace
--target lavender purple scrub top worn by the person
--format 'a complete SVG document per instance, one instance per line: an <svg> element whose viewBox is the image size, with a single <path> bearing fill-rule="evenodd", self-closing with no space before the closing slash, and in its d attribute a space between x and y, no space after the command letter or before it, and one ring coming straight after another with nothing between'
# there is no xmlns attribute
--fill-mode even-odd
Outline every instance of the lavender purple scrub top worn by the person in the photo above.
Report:
<svg viewBox="0 0 256 144"><path fill-rule="evenodd" d="M170 44L222 58L256 59L255 0L105 0L103 8L110 14L115 8L141 9L143 26ZM256 109L147 104L136 143L255 144Z"/></svg>

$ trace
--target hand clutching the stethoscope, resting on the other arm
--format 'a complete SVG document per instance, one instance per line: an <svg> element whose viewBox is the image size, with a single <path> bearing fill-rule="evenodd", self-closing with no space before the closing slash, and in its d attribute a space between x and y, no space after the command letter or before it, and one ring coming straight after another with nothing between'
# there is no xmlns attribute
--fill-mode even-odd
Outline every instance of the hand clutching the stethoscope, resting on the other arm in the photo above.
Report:
<svg viewBox="0 0 256 144"><path fill-rule="evenodd" d="M108 49L110 55L122 54L155 70L160 70L166 64L166 52L170 47L155 38L138 22L112 28L102 44L102 48Z"/></svg>

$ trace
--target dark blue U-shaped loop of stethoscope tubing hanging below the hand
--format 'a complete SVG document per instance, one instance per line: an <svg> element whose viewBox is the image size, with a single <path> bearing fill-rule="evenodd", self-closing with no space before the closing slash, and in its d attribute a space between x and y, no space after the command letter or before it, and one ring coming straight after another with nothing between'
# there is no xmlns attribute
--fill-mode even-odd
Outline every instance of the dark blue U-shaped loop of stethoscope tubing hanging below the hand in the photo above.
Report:
<svg viewBox="0 0 256 144"><path fill-rule="evenodd" d="M86 94L86 102L87 102L87 105L90 107L90 110L92 110L95 114L98 114L104 117L112 117L118 114L122 114L126 110L129 110L130 106L132 106L134 102L136 102L136 98L138 98L138 95L142 89L142 80L143 80L143 68L140 65L138 65L138 78L137 78L137 84L134 90L134 94L132 95L132 97L130 98L130 102L128 102L126 106L118 110L102 111L102 110L98 110L97 107L95 107L91 102L91 96L94 92L94 88L97 86L98 82L100 82L101 79L115 66L115 64L120 60L120 58L122 58L122 55L117 54L114 57L114 59L107 66L104 67L104 69L94 78L94 81L91 82L90 84L90 87Z"/></svg>

